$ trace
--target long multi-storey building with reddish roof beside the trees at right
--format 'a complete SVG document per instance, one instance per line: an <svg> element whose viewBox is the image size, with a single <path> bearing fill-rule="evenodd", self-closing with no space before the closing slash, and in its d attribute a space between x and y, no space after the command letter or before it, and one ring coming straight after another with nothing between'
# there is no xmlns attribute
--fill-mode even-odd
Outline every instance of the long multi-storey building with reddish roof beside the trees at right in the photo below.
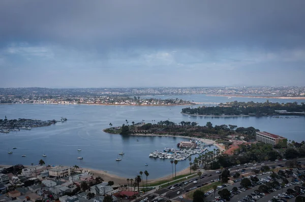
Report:
<svg viewBox="0 0 305 202"><path fill-rule="evenodd" d="M272 144L273 146L279 144L281 144L282 147L287 146L287 138L267 132L256 132L255 139L257 142L264 142L266 144Z"/></svg>

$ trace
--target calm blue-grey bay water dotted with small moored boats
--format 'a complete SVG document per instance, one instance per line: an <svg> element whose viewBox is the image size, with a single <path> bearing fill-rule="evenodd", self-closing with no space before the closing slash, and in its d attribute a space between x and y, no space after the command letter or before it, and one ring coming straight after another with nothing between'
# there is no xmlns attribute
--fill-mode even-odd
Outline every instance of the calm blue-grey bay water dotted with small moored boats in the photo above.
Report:
<svg viewBox="0 0 305 202"><path fill-rule="evenodd" d="M203 100L196 100L205 102ZM199 96L200 97L200 96ZM208 96L204 96L208 97ZM211 101L223 102L223 97L208 97ZM227 99L227 98L226 98ZM242 98L245 99L245 98ZM243 101L243 100L238 101ZM235 99L233 99L235 100ZM277 100L284 102L283 100ZM298 101L301 102L301 101ZM89 105L0 105L0 117L4 118L38 118L42 120L68 118L66 123L57 123L49 127L34 128L30 131L21 130L9 134L0 134L0 164L37 164L45 157L50 165L78 165L99 170L106 170L123 177L134 177L139 171L147 170L150 179L171 174L169 160L149 158L148 154L164 147L175 147L181 138L173 137L139 137L121 136L104 133L102 129L120 126L128 119L129 123L146 123L151 120L171 120L179 123L182 120L198 122L205 125L232 124L242 127L253 126L261 131L267 131L287 137L295 141L304 140L305 117L271 118L271 117L200 117L182 115L181 108L185 106L89 106ZM139 139L139 142L136 141ZM13 154L7 154L8 148L18 147ZM77 160L81 148L83 160ZM210 147L213 149L215 147ZM124 151L123 160L115 161L117 154ZM21 157L26 154L26 157ZM193 156L194 158L194 156ZM144 166L147 163L148 166ZM188 167L189 161L179 161L177 171Z"/></svg>

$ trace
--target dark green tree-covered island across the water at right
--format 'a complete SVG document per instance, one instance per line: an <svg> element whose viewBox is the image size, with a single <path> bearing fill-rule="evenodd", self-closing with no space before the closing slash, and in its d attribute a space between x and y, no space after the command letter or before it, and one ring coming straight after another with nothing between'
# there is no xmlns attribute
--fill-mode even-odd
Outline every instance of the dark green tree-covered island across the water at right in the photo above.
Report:
<svg viewBox="0 0 305 202"><path fill-rule="evenodd" d="M305 104L272 103L268 100L263 103L227 102L218 106L199 106L183 108L182 114L203 116L266 116L266 115L305 115Z"/></svg>

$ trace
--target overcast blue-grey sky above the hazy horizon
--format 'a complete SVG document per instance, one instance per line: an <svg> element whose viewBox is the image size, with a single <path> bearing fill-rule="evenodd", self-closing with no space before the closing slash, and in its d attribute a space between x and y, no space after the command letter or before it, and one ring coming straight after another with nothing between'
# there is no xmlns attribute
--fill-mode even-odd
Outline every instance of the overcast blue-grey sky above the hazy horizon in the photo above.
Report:
<svg viewBox="0 0 305 202"><path fill-rule="evenodd" d="M305 86L305 1L0 1L1 87Z"/></svg>

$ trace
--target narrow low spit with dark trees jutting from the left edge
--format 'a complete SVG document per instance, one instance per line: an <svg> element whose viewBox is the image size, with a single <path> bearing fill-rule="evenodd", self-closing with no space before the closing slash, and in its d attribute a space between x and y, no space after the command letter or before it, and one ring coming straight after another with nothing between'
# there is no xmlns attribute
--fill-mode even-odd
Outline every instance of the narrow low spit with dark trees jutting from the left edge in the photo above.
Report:
<svg viewBox="0 0 305 202"><path fill-rule="evenodd" d="M67 118L63 118L60 122L65 122ZM0 133L10 133L11 131L31 130L34 127L44 127L55 124L57 120L39 120L39 119L0 119Z"/></svg>

